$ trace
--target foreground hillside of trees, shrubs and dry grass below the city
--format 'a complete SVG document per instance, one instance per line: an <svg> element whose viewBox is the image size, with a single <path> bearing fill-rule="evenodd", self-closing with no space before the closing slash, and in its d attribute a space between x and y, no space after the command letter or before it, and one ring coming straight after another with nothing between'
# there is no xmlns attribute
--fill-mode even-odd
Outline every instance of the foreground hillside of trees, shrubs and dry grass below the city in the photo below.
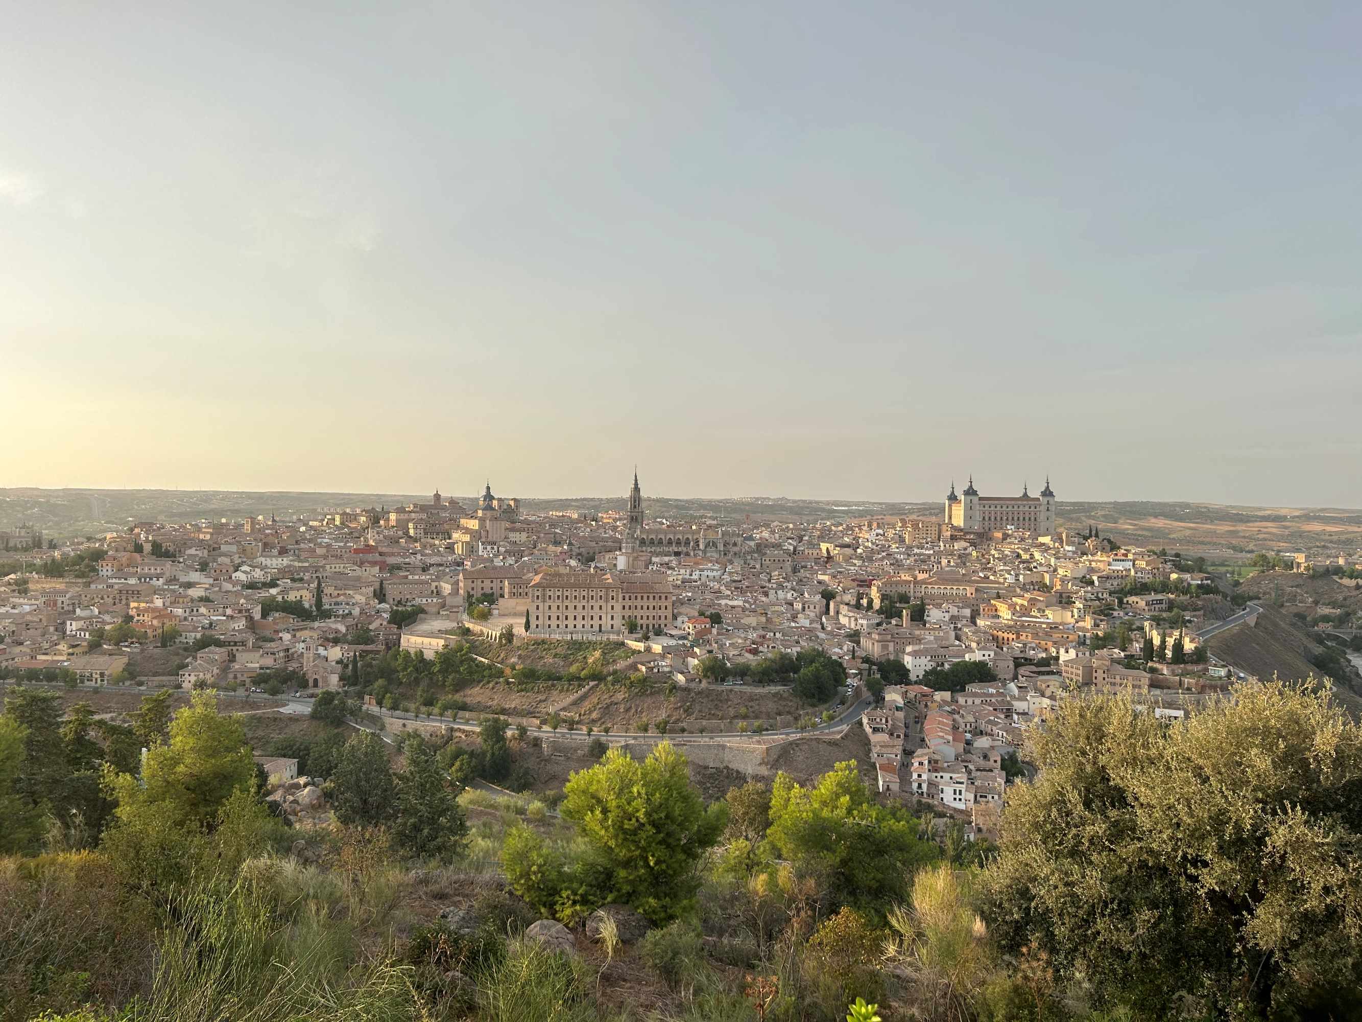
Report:
<svg viewBox="0 0 1362 1022"><path fill-rule="evenodd" d="M121 725L12 690L0 1022L1358 1014L1362 730L1310 684L1061 703L998 848L851 762L706 799L663 743L507 797L464 788L511 769L494 721L396 769L334 734L335 822L296 826L211 695Z"/></svg>

